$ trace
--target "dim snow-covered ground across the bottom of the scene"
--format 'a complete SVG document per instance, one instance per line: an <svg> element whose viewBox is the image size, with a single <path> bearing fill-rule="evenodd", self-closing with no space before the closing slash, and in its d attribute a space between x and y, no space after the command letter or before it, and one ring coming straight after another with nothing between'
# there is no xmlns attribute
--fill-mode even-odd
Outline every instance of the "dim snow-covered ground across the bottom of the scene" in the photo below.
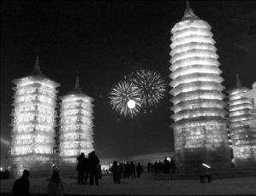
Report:
<svg viewBox="0 0 256 196"><path fill-rule="evenodd" d="M156 180L144 174L140 179L122 179L114 184L112 176L104 176L98 186L77 185L76 179L64 178L66 194L168 194L168 195L256 195L256 177L213 180L210 184L199 180ZM14 180L1 180L1 193L10 193ZM47 179L30 179L31 193L46 193ZM1 194L2 195L2 194Z"/></svg>

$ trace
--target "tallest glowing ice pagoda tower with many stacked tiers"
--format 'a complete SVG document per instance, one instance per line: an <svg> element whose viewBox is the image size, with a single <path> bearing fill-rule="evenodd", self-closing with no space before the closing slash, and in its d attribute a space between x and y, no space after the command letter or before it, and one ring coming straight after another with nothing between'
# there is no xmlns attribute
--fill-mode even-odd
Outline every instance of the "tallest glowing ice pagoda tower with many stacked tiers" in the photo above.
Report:
<svg viewBox="0 0 256 196"><path fill-rule="evenodd" d="M197 170L202 163L225 167L229 142L224 87L211 26L187 2L171 33L170 94L177 162L184 170Z"/></svg>

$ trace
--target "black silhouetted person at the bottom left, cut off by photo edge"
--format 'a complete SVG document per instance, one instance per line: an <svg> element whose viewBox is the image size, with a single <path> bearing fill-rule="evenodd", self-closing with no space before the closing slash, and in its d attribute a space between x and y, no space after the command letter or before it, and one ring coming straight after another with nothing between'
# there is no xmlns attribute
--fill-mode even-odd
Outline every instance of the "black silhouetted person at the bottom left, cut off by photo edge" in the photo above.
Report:
<svg viewBox="0 0 256 196"><path fill-rule="evenodd" d="M29 171L23 170L21 178L15 180L13 187L14 195L29 195Z"/></svg>

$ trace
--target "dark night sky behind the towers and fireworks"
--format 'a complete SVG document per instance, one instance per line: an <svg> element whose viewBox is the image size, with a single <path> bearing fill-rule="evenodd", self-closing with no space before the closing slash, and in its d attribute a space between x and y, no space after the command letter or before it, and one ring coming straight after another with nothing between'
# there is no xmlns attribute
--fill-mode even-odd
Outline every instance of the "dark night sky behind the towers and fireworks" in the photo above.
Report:
<svg viewBox="0 0 256 196"><path fill-rule="evenodd" d="M212 26L223 85L235 72L251 88L255 81L254 1L191 1L195 14ZM61 84L63 95L80 85L94 101L94 141L99 157L174 150L170 95L152 113L123 118L110 108L110 89L124 75L152 69L170 83L170 29L182 19L185 1L6 1L1 28L1 138L9 141L11 80L32 72L37 50L41 70ZM254 14L252 14L254 13ZM254 42L252 44L252 42ZM253 48L254 47L254 48ZM254 54L253 54L254 49ZM1 142L1 163L7 146Z"/></svg>

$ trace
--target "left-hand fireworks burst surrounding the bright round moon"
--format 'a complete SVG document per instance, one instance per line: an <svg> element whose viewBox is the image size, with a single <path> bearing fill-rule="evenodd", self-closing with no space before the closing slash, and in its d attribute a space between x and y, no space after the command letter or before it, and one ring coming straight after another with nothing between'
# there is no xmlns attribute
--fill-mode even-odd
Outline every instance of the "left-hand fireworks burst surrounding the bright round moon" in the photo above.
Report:
<svg viewBox="0 0 256 196"><path fill-rule="evenodd" d="M140 112L140 89L128 80L120 82L110 91L110 104L116 112L124 116L135 116ZM128 101L135 102L134 108L128 107Z"/></svg>

